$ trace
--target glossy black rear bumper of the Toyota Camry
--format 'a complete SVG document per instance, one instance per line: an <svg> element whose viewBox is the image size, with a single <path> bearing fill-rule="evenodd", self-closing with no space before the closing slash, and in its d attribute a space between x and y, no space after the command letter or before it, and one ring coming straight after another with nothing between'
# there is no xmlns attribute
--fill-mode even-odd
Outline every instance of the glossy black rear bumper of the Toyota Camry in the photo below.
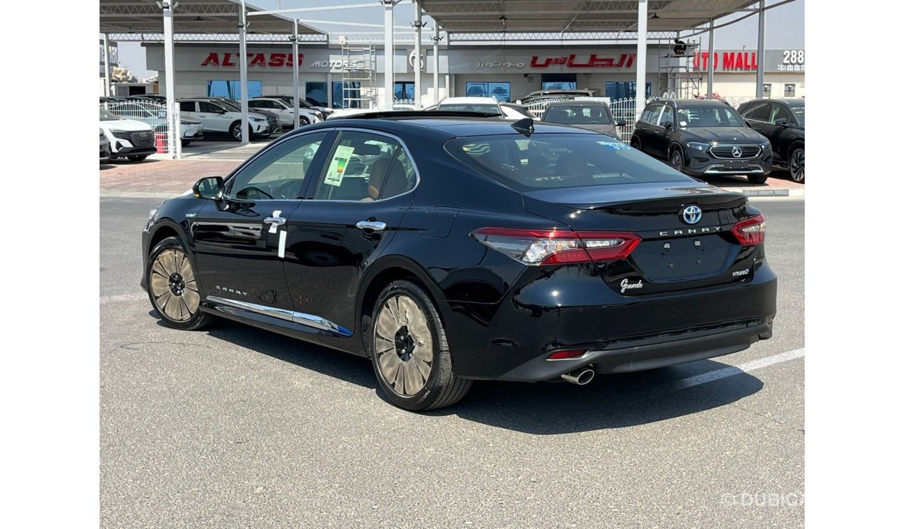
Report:
<svg viewBox="0 0 905 529"><path fill-rule="evenodd" d="M590 364L640 371L735 353L773 334L776 274L766 261L744 282L644 296L621 295L590 271L551 270L493 306L443 307L456 374L536 382ZM566 350L585 353L548 360Z"/></svg>

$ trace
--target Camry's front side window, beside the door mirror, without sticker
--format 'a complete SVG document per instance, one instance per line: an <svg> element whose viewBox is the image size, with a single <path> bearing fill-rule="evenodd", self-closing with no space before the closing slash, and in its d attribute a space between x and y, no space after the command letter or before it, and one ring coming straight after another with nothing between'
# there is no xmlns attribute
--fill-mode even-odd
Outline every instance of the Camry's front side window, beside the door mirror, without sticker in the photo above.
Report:
<svg viewBox="0 0 905 529"><path fill-rule="evenodd" d="M285 200L301 195L318 148L327 132L293 137L245 165L227 185L226 194L240 200Z"/></svg>

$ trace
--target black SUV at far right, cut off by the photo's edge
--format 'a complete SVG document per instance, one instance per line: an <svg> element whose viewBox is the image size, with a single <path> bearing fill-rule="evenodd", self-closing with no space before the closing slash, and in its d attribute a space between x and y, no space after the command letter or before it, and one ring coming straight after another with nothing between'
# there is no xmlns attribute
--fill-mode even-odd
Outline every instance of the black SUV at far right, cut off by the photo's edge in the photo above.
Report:
<svg viewBox="0 0 905 529"><path fill-rule="evenodd" d="M754 99L738 107L748 125L769 138L773 164L805 183L805 99Z"/></svg>

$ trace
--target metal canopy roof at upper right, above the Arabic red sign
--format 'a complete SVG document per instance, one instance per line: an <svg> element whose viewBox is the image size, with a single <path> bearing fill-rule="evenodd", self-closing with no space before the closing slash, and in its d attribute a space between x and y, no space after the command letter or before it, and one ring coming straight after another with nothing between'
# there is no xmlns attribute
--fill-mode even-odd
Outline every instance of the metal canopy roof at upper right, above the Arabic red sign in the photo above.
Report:
<svg viewBox="0 0 905 529"><path fill-rule="evenodd" d="M752 0L422 0L455 41L634 40L639 4L647 5L647 38L665 39L676 32L700 31L711 19L756 12ZM589 35L588 33L594 33Z"/></svg>

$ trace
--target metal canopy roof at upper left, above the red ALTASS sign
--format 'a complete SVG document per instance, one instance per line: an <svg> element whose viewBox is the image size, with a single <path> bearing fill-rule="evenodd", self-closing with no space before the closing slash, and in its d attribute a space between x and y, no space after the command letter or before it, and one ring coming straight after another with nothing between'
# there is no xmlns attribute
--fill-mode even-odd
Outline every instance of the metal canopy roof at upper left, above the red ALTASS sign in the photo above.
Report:
<svg viewBox="0 0 905 529"><path fill-rule="evenodd" d="M176 41L238 41L242 4L233 0L178 0L173 13ZM246 4L249 13L262 9ZM113 41L164 41L164 10L156 0L100 0L100 33ZM280 14L255 16L246 32L248 41L286 42L298 24L299 40L326 42L327 34Z"/></svg>

